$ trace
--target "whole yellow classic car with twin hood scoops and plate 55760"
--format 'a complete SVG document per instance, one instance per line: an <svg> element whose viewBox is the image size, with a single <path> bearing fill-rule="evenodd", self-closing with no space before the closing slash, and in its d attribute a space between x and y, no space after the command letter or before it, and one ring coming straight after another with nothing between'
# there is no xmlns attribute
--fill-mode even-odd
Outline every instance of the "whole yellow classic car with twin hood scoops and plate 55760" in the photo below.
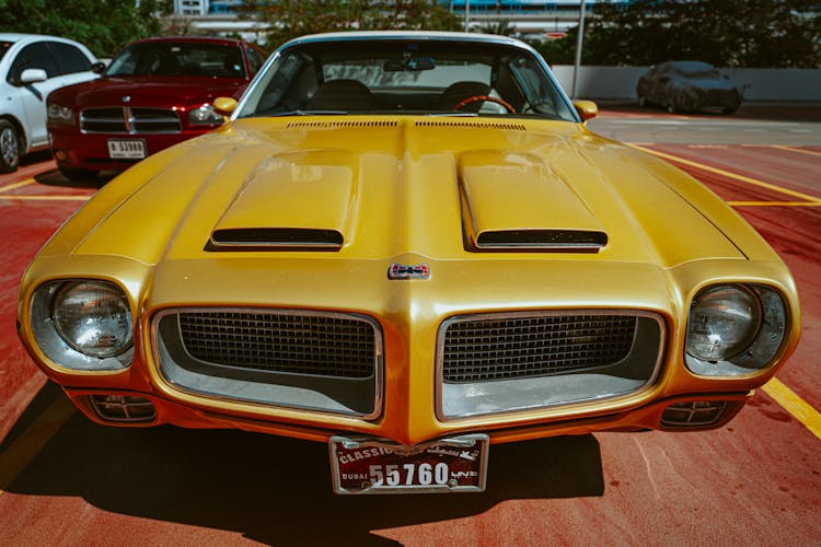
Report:
<svg viewBox="0 0 821 547"><path fill-rule="evenodd" d="M307 36L216 106L23 278L21 339L94 421L324 442L339 493L481 491L495 443L720 427L798 341L762 237L520 42Z"/></svg>

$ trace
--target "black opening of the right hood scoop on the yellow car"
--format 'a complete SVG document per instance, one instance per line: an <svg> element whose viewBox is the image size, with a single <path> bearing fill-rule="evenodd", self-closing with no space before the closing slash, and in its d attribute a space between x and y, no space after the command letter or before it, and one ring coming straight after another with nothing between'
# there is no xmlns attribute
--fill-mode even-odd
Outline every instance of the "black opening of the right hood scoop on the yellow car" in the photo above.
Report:
<svg viewBox="0 0 821 547"><path fill-rule="evenodd" d="M476 237L479 249L544 249L598 252L608 244L604 232L580 230L498 230L482 232Z"/></svg>

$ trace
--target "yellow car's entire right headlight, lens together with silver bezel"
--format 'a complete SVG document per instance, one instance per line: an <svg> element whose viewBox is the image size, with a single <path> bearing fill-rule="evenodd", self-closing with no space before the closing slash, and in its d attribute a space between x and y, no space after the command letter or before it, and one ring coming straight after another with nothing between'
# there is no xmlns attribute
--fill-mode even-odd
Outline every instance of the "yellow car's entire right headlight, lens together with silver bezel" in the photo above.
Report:
<svg viewBox="0 0 821 547"><path fill-rule="evenodd" d="M775 290L708 287L690 306L685 362L702 375L749 374L772 364L786 333L784 301Z"/></svg>

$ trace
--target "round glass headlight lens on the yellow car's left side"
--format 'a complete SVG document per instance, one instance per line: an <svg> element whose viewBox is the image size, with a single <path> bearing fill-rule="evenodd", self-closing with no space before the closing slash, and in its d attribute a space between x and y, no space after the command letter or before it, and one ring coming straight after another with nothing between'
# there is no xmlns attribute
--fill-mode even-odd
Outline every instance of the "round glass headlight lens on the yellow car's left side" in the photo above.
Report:
<svg viewBox="0 0 821 547"><path fill-rule="evenodd" d="M113 283L66 284L55 296L51 314L55 328L66 344L86 356L103 359L131 346L128 299Z"/></svg>

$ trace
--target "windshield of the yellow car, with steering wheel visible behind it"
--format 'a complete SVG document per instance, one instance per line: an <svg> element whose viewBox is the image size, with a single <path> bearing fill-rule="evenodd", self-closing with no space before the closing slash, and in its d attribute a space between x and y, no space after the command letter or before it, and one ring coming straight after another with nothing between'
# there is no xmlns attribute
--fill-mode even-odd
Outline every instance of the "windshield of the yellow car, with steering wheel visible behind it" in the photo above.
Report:
<svg viewBox="0 0 821 547"><path fill-rule="evenodd" d="M323 40L279 51L239 117L465 114L575 121L539 58L482 42Z"/></svg>

